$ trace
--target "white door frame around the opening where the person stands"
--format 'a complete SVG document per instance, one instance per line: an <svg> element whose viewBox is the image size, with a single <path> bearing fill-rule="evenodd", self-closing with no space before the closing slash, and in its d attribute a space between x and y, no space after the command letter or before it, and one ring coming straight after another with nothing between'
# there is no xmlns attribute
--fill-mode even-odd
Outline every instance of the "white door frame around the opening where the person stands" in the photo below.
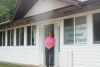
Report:
<svg viewBox="0 0 100 67"><path fill-rule="evenodd" d="M40 51L40 56L41 56L41 64L42 66L45 66L45 46L44 46L44 39L45 39L45 26L46 25L50 25L50 24L54 24L54 35L55 35L55 40L56 40L56 43L55 43L55 54L54 54L54 67L60 67L60 28L61 28L61 21L60 20L57 20L57 21L52 21L52 22L46 22L46 23L43 23L40 25L40 43L41 43L41 49L42 51ZM57 35L57 33L59 33ZM59 36L59 38L58 38ZM59 44L59 45L58 45Z"/></svg>

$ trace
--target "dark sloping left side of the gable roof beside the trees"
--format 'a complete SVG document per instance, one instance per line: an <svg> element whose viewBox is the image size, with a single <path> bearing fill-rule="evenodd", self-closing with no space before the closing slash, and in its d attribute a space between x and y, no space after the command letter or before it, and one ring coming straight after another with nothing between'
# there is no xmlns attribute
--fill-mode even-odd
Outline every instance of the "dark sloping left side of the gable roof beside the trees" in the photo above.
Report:
<svg viewBox="0 0 100 67"><path fill-rule="evenodd" d="M16 11L13 15L12 21L21 19L32 8L38 0L20 0Z"/></svg>

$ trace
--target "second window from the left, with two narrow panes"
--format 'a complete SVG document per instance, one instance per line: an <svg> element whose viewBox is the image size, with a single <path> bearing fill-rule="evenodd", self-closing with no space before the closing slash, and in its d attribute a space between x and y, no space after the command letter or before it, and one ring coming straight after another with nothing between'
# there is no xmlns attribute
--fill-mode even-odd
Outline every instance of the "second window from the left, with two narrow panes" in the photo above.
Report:
<svg viewBox="0 0 100 67"><path fill-rule="evenodd" d="M14 30L8 30L7 31L7 46L13 46L14 45Z"/></svg>

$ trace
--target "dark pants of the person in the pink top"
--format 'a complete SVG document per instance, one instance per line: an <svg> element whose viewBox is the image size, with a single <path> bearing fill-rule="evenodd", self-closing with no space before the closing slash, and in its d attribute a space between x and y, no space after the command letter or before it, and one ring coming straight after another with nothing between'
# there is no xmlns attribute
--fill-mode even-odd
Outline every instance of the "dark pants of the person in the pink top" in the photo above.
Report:
<svg viewBox="0 0 100 67"><path fill-rule="evenodd" d="M47 67L54 66L54 47L50 49L45 48L45 57Z"/></svg>

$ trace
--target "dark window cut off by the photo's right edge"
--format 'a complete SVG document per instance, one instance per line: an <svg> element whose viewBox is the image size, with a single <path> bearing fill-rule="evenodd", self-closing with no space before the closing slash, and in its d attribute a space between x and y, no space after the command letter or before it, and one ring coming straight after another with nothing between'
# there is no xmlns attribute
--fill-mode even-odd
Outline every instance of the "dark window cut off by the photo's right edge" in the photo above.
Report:
<svg viewBox="0 0 100 67"><path fill-rule="evenodd" d="M93 15L93 42L100 44L100 13Z"/></svg>

